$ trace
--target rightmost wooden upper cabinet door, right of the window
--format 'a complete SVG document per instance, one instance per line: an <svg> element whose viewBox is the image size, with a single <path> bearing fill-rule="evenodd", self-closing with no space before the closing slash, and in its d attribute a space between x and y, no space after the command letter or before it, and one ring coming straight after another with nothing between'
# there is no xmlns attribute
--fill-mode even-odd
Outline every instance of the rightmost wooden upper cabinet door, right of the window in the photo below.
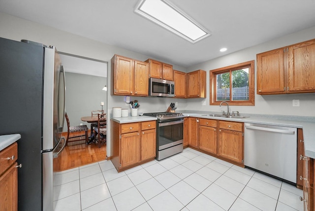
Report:
<svg viewBox="0 0 315 211"><path fill-rule="evenodd" d="M288 93L315 92L315 39L288 47Z"/></svg>

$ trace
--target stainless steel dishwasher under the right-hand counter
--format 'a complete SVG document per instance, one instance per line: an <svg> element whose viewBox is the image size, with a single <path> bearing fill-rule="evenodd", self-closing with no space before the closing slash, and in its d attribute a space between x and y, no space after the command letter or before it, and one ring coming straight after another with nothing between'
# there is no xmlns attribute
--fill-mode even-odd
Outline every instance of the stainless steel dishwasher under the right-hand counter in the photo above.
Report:
<svg viewBox="0 0 315 211"><path fill-rule="evenodd" d="M296 183L296 159L296 128L245 123L245 166Z"/></svg>

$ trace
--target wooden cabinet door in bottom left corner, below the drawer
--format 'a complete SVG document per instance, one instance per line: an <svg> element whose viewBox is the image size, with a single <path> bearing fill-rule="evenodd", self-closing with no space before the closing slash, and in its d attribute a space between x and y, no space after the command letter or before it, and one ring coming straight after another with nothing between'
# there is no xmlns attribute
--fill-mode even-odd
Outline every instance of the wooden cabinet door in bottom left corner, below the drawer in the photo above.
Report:
<svg viewBox="0 0 315 211"><path fill-rule="evenodd" d="M11 166L0 177L0 211L18 210L18 170Z"/></svg>

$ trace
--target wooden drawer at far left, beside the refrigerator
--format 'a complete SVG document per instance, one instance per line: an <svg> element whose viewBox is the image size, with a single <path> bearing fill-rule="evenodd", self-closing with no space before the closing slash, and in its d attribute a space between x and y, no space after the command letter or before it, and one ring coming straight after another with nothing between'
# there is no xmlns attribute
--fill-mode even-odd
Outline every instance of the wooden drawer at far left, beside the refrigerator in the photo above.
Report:
<svg viewBox="0 0 315 211"><path fill-rule="evenodd" d="M12 159L13 158L13 159ZM0 175L18 159L18 144L12 143L0 152Z"/></svg>

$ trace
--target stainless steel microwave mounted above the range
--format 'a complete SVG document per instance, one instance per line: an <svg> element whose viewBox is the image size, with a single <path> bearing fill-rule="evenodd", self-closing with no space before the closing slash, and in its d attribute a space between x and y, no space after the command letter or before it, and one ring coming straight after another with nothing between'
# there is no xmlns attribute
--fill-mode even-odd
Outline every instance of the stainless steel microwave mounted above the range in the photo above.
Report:
<svg viewBox="0 0 315 211"><path fill-rule="evenodd" d="M175 97L174 81L150 78L149 96Z"/></svg>

